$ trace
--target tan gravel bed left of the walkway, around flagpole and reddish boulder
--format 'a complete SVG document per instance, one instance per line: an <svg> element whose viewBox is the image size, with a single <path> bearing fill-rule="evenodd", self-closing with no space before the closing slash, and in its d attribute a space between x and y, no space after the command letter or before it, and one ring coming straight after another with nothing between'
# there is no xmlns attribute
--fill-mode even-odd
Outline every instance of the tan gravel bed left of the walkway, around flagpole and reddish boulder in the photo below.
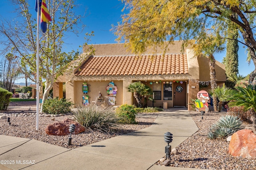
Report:
<svg viewBox="0 0 256 170"><path fill-rule="evenodd" d="M11 102L8 111L0 111L0 113L36 113L36 102ZM150 117L143 117L143 115ZM6 119L0 119L0 135L8 135L15 137L23 137L29 139L36 139L38 141L50 143L52 145L58 145L69 149L74 149L98 141L102 141L117 135L123 135L140 129L144 129L152 125L158 113L144 113L136 116L137 125L120 125L114 133L102 133L100 131L90 131L90 133L80 133L78 135L72 135L72 145L68 146L68 136L54 136L47 135L44 131L46 126L54 121L60 121L62 119L71 118L70 115L54 117L39 117L40 129L36 131L36 117L31 115L28 117L14 115L8 116L11 120L11 126L8 125ZM3 130L4 129L4 130Z"/></svg>

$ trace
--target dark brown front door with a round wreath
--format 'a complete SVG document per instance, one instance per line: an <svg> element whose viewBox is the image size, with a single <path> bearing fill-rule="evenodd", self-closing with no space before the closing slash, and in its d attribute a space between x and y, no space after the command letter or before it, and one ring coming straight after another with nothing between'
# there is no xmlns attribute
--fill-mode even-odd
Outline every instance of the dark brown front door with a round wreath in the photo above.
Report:
<svg viewBox="0 0 256 170"><path fill-rule="evenodd" d="M186 83L174 82L173 96L174 107L184 106L186 107Z"/></svg>

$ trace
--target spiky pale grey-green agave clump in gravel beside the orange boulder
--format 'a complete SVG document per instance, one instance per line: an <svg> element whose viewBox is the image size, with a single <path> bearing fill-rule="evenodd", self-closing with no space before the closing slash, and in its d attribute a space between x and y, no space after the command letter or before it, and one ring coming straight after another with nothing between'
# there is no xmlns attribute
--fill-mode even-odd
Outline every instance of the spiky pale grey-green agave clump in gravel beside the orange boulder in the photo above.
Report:
<svg viewBox="0 0 256 170"><path fill-rule="evenodd" d="M242 121L237 116L226 115L210 127L208 138L224 138L242 129Z"/></svg>

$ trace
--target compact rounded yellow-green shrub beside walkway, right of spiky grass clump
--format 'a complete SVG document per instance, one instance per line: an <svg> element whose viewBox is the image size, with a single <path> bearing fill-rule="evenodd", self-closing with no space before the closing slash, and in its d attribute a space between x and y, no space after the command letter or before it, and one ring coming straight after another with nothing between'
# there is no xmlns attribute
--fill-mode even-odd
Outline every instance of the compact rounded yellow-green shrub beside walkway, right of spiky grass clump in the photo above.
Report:
<svg viewBox="0 0 256 170"><path fill-rule="evenodd" d="M116 109L116 114L120 119L120 123L125 124L136 124L136 111L134 105L124 104Z"/></svg>

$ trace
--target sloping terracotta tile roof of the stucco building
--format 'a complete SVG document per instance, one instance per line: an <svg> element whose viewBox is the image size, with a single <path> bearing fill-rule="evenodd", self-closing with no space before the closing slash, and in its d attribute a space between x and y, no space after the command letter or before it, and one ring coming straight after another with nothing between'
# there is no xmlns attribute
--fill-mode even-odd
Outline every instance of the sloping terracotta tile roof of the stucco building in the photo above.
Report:
<svg viewBox="0 0 256 170"><path fill-rule="evenodd" d="M91 56L76 76L188 74L186 54Z"/></svg>

